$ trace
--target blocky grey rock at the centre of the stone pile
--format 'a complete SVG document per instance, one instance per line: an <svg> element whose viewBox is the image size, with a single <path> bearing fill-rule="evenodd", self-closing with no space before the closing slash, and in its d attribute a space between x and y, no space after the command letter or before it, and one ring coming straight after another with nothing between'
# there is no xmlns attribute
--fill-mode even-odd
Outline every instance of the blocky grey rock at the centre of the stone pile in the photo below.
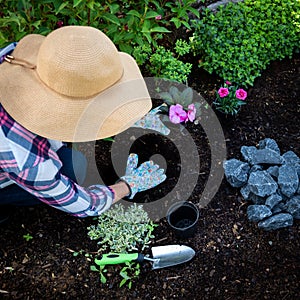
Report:
<svg viewBox="0 0 300 300"><path fill-rule="evenodd" d="M252 172L248 179L250 191L260 197L272 195L278 185L267 171Z"/></svg>

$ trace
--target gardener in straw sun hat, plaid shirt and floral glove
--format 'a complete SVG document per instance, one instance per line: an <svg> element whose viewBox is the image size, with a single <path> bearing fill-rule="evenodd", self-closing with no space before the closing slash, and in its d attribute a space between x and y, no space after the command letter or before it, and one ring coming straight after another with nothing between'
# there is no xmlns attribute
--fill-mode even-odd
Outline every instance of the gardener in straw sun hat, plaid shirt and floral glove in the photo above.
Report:
<svg viewBox="0 0 300 300"><path fill-rule="evenodd" d="M97 216L163 182L164 170L152 161L138 167L131 154L118 183L85 188L85 157L60 142L116 135L150 108L135 60L98 29L66 26L22 38L0 65L0 222L12 207L41 201Z"/></svg>

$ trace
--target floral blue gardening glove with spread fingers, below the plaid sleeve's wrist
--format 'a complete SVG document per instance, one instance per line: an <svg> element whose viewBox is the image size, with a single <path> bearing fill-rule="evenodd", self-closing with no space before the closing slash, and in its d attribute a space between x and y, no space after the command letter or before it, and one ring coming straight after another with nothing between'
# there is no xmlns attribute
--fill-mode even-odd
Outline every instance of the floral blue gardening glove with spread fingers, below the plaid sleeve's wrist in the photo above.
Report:
<svg viewBox="0 0 300 300"><path fill-rule="evenodd" d="M153 161L145 161L139 167L138 155L131 153L128 156L126 173L121 177L130 187L129 199L132 199L136 193L151 189L162 183L167 177L164 169L159 169L159 165Z"/></svg>

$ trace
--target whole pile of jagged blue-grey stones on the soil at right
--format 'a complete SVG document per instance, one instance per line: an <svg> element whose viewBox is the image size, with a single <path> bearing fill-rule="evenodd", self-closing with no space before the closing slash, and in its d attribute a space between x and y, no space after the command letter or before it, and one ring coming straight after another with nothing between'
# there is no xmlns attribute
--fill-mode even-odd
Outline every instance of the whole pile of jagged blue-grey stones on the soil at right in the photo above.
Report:
<svg viewBox="0 0 300 300"><path fill-rule="evenodd" d="M247 215L264 230L293 225L300 219L300 158L288 151L280 154L275 140L261 140L258 147L242 146L245 161L224 162L225 177L250 202Z"/></svg>

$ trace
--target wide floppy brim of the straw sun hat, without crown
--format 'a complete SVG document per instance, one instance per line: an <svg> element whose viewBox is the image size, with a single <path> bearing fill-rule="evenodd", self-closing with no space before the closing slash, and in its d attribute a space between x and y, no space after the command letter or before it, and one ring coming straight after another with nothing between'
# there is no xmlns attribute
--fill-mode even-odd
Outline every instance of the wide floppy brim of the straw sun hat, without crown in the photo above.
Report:
<svg viewBox="0 0 300 300"><path fill-rule="evenodd" d="M29 35L12 54L35 64L44 39L42 35ZM0 102L18 123L46 138L84 142L114 136L132 126L152 106L136 61L118 53L122 77L101 93L75 101L47 87L36 69L4 62L0 66Z"/></svg>

